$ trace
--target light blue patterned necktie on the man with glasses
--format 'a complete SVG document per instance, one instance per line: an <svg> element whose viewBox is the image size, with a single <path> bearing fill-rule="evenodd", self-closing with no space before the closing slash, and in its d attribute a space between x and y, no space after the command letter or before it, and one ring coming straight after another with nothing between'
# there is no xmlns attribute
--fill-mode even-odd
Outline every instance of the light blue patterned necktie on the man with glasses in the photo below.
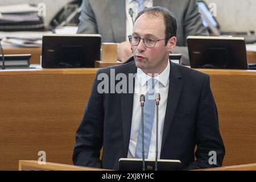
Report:
<svg viewBox="0 0 256 182"><path fill-rule="evenodd" d="M155 80L154 78L150 78L147 81L147 86L150 86L144 103L144 152L145 159L148 156L148 150L150 146L151 139L151 130L153 125L153 120L155 116ZM137 146L135 151L135 158L142 159L142 122L140 122L139 126L139 134L137 140Z"/></svg>

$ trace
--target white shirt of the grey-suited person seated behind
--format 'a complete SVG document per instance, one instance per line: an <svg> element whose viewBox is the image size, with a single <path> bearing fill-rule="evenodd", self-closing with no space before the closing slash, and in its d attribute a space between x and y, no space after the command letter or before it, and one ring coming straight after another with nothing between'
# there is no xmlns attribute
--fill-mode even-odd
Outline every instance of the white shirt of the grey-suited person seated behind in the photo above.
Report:
<svg viewBox="0 0 256 182"><path fill-rule="evenodd" d="M125 1L125 11L126 11L126 40L128 41L129 35L133 34L133 20L135 20L138 12L138 2L135 0L126 0ZM145 7L152 7L153 6L153 0L145 0L144 1ZM129 9L133 9L133 20L131 19L131 16L129 14Z"/></svg>

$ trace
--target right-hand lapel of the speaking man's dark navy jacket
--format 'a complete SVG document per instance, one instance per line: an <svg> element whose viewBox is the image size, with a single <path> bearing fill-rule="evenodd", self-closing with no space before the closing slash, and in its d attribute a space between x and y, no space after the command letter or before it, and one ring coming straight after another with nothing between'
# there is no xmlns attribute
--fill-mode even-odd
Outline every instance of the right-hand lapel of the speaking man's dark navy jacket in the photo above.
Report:
<svg viewBox="0 0 256 182"><path fill-rule="evenodd" d="M180 94L183 88L183 81L180 80L180 78L181 78L181 73L179 72L179 69L177 69L177 66L171 62L166 115L164 118L164 127L163 127L162 149L163 149L164 143L166 142L166 138L171 127L172 118L174 118L175 110L179 102Z"/></svg>

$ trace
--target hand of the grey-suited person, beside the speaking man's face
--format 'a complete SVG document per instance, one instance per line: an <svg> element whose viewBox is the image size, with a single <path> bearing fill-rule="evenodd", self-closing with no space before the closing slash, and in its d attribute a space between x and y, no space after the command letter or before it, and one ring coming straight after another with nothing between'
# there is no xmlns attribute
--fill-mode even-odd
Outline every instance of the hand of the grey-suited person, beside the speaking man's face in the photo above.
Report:
<svg viewBox="0 0 256 182"><path fill-rule="evenodd" d="M131 51L131 44L129 42L121 42L117 44L117 59L124 63L133 52Z"/></svg>

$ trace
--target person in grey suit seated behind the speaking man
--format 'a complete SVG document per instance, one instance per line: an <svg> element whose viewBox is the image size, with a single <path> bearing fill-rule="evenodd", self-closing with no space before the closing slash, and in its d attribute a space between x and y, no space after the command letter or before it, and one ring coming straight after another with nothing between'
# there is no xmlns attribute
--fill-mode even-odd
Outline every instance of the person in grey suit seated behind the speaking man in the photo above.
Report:
<svg viewBox="0 0 256 182"><path fill-rule="evenodd" d="M125 61L132 55L126 41L133 23L129 7L136 9L137 0L83 0L79 34L101 34L102 42L118 43L118 60ZM132 5L131 5L132 4ZM133 6L134 4L134 6ZM131 6L130 6L131 5ZM145 0L144 6L162 6L170 10L177 19L177 46L172 53L181 53L181 63L189 65L187 36L207 36L196 0ZM134 16L137 11L134 10ZM130 22L130 23L127 23Z"/></svg>

